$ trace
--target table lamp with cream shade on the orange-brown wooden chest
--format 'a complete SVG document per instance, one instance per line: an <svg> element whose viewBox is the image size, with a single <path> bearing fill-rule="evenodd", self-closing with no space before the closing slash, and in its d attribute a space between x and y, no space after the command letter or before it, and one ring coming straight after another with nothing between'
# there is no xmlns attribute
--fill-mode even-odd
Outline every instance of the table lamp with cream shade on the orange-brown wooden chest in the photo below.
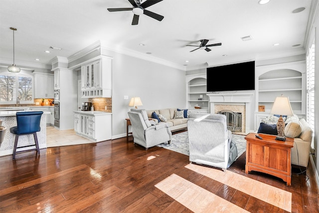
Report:
<svg viewBox="0 0 319 213"><path fill-rule="evenodd" d="M280 115L277 122L278 136L276 137L276 140L286 141L286 137L284 136L285 122L283 120L283 115L294 115L289 102L289 97L284 97L283 95L281 97L276 97L270 114Z"/></svg>

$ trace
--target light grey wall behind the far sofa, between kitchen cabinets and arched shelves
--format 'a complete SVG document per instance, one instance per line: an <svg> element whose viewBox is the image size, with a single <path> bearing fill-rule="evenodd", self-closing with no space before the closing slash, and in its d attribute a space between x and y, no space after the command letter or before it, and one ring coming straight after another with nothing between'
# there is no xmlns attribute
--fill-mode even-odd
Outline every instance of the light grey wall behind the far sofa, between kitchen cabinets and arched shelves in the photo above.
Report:
<svg viewBox="0 0 319 213"><path fill-rule="evenodd" d="M131 97L141 97L139 108L147 110L186 107L185 71L112 51L104 54L113 57L112 138L126 136Z"/></svg>

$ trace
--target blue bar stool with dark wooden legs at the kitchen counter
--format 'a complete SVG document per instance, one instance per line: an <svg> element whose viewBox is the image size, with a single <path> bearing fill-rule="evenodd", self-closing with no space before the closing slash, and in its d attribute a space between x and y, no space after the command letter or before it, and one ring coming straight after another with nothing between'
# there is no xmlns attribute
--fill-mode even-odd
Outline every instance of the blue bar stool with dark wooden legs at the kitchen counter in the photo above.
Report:
<svg viewBox="0 0 319 213"><path fill-rule="evenodd" d="M22 148L22 147L17 147L18 138L19 138L19 136L22 136L22 135L33 134L34 143L35 143L36 148L31 149L31 150L36 150L37 154L40 155L40 149L39 149L38 138L37 138L36 132L39 132L41 130L40 120L41 120L42 114L43 114L42 111L17 112L16 113L17 126L10 128L10 132L15 135L12 160L15 160L15 153L17 153L16 149ZM29 146L34 146L34 145L29 145ZM24 146L24 147L28 147L28 146ZM18 152L22 152L22 151L18 151Z"/></svg>

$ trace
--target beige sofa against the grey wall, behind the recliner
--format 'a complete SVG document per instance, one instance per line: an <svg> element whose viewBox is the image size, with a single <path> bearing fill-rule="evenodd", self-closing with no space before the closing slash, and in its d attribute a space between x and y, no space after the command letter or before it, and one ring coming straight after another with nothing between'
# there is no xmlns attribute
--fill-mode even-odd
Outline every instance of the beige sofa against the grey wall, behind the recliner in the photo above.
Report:
<svg viewBox="0 0 319 213"><path fill-rule="evenodd" d="M177 111L177 108L168 108L168 109L156 109L156 110L147 110L147 114L149 118L152 118L152 113L156 112L157 114L163 115L167 121L166 123L169 126L171 132L185 129L187 128L187 120L188 118L174 118L174 114ZM155 118L152 118L155 123L159 123L159 121Z"/></svg>

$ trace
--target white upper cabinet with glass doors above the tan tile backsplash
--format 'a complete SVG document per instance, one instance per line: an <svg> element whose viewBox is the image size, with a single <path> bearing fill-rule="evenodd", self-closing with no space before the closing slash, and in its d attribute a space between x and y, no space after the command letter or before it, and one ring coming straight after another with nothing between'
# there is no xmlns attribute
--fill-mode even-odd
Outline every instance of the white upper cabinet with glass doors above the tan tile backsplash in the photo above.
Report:
<svg viewBox="0 0 319 213"><path fill-rule="evenodd" d="M112 58L101 58L81 66L82 97L112 96Z"/></svg>

